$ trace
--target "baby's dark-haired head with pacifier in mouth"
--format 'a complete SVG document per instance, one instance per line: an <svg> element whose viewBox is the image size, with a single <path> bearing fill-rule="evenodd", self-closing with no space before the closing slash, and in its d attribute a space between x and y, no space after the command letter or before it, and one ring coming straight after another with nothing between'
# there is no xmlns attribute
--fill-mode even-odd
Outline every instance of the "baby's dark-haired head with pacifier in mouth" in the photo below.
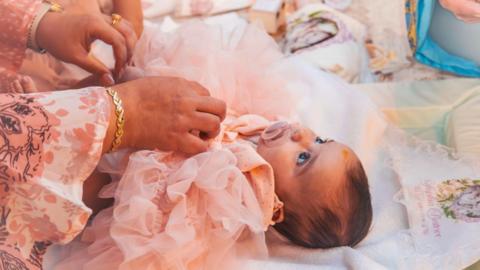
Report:
<svg viewBox="0 0 480 270"><path fill-rule="evenodd" d="M272 166L275 192L284 202L278 232L308 248L353 247L367 235L368 181L350 148L277 122L262 133L257 151Z"/></svg>

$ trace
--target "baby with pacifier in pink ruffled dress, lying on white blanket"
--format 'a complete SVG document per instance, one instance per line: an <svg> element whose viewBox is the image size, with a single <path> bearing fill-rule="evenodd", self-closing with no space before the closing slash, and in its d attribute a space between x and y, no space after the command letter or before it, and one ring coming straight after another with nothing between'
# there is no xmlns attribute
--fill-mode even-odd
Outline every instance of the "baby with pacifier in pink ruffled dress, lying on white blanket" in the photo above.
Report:
<svg viewBox="0 0 480 270"><path fill-rule="evenodd" d="M115 204L55 269L236 269L239 254L263 254L259 235L271 225L307 248L353 247L371 225L355 153L299 124L229 116L205 153L141 151L128 165L125 157L113 154L102 166L121 178L100 192Z"/></svg>

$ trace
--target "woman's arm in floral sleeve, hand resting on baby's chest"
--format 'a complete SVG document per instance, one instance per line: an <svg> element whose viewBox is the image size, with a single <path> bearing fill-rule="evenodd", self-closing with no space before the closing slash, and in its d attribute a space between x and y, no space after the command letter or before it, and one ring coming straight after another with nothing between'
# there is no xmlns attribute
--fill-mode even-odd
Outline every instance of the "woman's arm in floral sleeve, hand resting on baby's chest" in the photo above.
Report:
<svg viewBox="0 0 480 270"><path fill-rule="evenodd" d="M225 103L184 79L150 77L113 89L126 119L120 149L199 153L208 142L190 131L215 136L225 117ZM41 268L50 243L67 243L84 228L91 209L83 185L111 149L114 108L99 87L0 94L0 261L7 268ZM94 198L104 184L93 183L86 195Z"/></svg>

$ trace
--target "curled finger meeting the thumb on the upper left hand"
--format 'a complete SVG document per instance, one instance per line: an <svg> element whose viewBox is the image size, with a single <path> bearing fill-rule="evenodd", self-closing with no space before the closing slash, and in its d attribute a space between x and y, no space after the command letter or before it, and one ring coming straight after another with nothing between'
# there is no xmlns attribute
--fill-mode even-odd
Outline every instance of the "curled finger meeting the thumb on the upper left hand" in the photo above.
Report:
<svg viewBox="0 0 480 270"><path fill-rule="evenodd" d="M98 21L92 29L92 37L100 39L113 48L115 56L115 76L126 66L128 61L127 42L125 38L105 21Z"/></svg>

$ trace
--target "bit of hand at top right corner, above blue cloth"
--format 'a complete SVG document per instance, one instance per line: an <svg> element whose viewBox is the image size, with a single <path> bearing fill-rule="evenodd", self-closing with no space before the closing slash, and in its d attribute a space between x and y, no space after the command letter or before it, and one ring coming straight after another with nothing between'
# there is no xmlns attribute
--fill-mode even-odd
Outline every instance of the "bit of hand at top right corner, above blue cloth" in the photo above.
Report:
<svg viewBox="0 0 480 270"><path fill-rule="evenodd" d="M439 0L443 8L467 23L480 22L480 3L476 0Z"/></svg>

